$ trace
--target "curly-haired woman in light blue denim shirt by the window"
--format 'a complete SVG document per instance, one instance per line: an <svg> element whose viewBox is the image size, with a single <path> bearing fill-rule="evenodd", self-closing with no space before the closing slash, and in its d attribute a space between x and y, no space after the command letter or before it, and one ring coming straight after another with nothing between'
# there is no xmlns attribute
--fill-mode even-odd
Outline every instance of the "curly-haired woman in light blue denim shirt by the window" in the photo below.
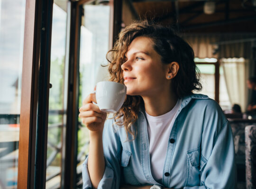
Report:
<svg viewBox="0 0 256 189"><path fill-rule="evenodd" d="M90 132L83 188L235 188L231 129L215 101L192 93L201 89L192 48L144 21L120 32L109 55L110 80L127 86L127 99L107 120L94 94L80 108Z"/></svg>

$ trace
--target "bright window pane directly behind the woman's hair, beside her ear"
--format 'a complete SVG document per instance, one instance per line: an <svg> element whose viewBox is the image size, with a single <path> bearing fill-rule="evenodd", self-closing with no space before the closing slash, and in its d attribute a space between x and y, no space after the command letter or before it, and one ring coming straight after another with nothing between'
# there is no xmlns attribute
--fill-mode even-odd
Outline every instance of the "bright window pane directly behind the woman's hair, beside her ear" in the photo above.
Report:
<svg viewBox="0 0 256 189"><path fill-rule="evenodd" d="M194 93L201 93L208 95L210 98L214 99L215 97L215 65L213 64L197 64L197 68L200 70L201 73L201 84L202 90L200 92Z"/></svg>

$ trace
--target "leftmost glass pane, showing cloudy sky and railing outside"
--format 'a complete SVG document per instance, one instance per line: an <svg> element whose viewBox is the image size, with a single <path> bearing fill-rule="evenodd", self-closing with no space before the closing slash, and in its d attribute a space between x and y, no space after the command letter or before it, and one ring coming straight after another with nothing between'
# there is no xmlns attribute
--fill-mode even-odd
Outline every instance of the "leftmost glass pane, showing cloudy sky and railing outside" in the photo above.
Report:
<svg viewBox="0 0 256 189"><path fill-rule="evenodd" d="M16 189L26 0L0 0L0 189Z"/></svg>

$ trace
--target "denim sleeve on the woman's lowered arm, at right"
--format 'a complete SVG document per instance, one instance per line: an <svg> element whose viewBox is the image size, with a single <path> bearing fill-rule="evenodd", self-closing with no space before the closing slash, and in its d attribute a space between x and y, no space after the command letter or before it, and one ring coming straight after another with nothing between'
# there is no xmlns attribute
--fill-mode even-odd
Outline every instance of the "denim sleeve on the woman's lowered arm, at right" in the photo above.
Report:
<svg viewBox="0 0 256 189"><path fill-rule="evenodd" d="M226 120L222 116L218 119ZM201 186L184 187L184 189L236 188L237 173L232 130L228 120L216 129L214 124L219 124L217 123L219 120L203 131L205 136L202 136L201 143Z"/></svg>

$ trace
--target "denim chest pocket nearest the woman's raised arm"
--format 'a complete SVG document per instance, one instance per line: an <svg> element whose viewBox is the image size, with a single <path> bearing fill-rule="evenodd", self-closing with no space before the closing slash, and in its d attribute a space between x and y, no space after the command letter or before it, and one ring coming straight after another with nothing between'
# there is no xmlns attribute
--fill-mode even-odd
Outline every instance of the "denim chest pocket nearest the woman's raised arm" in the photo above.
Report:
<svg viewBox="0 0 256 189"><path fill-rule="evenodd" d="M122 151L122 156L121 156L121 167L122 167L122 176L125 181L125 184L137 185L137 186L140 185L132 169L131 153L124 149Z"/></svg>

